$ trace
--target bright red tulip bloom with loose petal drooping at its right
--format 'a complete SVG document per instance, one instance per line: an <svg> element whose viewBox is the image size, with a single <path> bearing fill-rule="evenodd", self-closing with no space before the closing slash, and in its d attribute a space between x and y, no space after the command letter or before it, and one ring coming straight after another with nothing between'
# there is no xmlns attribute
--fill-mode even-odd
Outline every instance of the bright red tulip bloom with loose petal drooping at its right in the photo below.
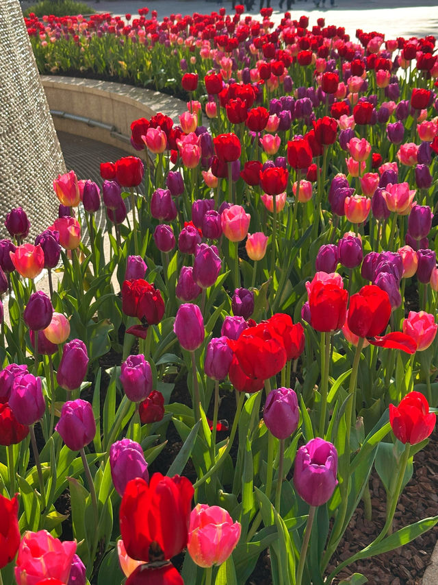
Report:
<svg viewBox="0 0 438 585"><path fill-rule="evenodd" d="M386 291L376 285L362 287L350 298L348 328L359 337L375 337L385 331L391 317Z"/></svg>

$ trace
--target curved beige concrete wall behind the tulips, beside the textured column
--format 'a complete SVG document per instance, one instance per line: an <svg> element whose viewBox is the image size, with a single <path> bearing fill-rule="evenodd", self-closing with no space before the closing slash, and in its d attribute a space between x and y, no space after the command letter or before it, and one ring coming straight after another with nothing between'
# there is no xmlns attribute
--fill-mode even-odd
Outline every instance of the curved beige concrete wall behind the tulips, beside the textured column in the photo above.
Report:
<svg viewBox="0 0 438 585"><path fill-rule="evenodd" d="M129 154L138 154L129 143L133 120L162 112L177 123L187 109L184 102L170 95L120 83L60 75L42 75L41 81L56 130L98 140ZM62 112L82 121L62 117Z"/></svg>

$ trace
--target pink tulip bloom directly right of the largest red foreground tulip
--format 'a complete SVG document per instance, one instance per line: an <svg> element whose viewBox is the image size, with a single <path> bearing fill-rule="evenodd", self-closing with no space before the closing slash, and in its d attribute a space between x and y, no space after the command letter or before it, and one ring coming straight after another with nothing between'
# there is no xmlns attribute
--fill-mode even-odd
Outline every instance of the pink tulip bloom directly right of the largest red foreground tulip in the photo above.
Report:
<svg viewBox="0 0 438 585"><path fill-rule="evenodd" d="M197 504L190 514L188 552L198 566L222 564L235 549L242 527L227 510Z"/></svg>

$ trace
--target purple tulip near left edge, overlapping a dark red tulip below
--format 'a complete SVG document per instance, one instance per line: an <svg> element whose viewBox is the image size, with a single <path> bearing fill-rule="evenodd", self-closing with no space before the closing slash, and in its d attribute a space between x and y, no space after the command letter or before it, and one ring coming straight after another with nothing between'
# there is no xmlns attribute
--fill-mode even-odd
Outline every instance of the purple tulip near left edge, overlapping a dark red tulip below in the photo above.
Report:
<svg viewBox="0 0 438 585"><path fill-rule="evenodd" d="M21 425L34 425L42 418L46 409L41 379L32 374L17 376L8 403Z"/></svg>

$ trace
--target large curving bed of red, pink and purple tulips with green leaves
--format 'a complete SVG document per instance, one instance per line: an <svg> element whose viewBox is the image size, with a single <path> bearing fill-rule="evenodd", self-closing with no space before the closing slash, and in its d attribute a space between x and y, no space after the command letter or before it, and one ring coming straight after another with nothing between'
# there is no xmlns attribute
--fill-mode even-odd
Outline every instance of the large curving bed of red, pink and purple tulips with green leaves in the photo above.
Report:
<svg viewBox="0 0 438 585"><path fill-rule="evenodd" d="M5 218L3 582L261 582L269 549L272 583L330 583L438 523L393 523L438 403L435 39L242 8L34 36L40 62L185 59L190 102L133 121L140 157L103 161L101 188L55 179L34 244L25 211ZM49 298L34 279L60 261ZM377 477L385 518L341 554Z"/></svg>

